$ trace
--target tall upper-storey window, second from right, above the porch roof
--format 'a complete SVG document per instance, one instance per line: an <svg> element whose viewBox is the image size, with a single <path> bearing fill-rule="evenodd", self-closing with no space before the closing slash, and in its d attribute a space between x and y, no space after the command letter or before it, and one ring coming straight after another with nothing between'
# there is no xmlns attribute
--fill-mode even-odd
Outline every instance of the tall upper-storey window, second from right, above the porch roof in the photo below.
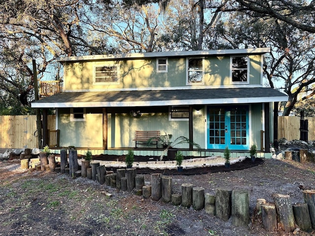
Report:
<svg viewBox="0 0 315 236"><path fill-rule="evenodd" d="M203 81L203 58L188 58L187 63L187 85L204 84Z"/></svg>

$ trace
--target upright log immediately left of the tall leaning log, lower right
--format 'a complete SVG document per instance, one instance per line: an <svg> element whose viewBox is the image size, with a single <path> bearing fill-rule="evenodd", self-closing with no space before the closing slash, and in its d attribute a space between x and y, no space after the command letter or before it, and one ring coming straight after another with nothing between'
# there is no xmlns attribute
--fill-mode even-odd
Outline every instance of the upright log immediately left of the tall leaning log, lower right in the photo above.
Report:
<svg viewBox="0 0 315 236"><path fill-rule="evenodd" d="M277 212L276 205L273 203L265 203L261 205L262 224L267 231L277 230Z"/></svg>

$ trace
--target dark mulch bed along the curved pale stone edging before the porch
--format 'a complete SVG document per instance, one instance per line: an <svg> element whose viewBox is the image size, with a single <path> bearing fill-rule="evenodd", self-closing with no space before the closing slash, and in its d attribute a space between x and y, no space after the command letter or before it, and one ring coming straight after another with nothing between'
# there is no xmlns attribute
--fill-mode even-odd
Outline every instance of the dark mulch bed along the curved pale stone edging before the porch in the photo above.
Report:
<svg viewBox="0 0 315 236"><path fill-rule="evenodd" d="M104 160L104 161L110 161L110 160L117 160L124 161L124 156L113 156L110 157L108 155L98 155L94 156L94 160ZM151 158L151 159L150 159ZM154 158L155 160L156 158ZM190 157L186 157L185 159L190 159ZM152 161L152 156L135 156L135 162L139 161ZM252 162L251 158L246 158L244 161L237 162L235 164L231 164L230 168L225 168L224 166L212 166L212 167L199 167L199 168L193 168L193 169L184 169L183 172L178 172L177 170L169 170L169 169L157 169L153 170L150 168L137 168L136 165L133 165L134 168L137 168L137 174L156 174L161 173L163 175L200 175L200 174L207 174L207 173L216 173L216 172L228 172L228 171L237 171L237 170L243 170L247 169L253 166L260 165L264 162L261 158L256 158L254 162ZM116 173L116 170L118 168L114 167L106 167L107 171L114 171Z"/></svg>

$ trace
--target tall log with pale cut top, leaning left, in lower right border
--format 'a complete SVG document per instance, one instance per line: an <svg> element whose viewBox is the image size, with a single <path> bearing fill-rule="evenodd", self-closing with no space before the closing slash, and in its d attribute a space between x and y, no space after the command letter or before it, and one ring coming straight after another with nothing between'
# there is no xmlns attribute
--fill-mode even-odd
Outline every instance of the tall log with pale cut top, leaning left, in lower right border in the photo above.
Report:
<svg viewBox="0 0 315 236"><path fill-rule="evenodd" d="M294 230L294 216L289 195L274 194L273 199L276 205L280 226L286 233Z"/></svg>

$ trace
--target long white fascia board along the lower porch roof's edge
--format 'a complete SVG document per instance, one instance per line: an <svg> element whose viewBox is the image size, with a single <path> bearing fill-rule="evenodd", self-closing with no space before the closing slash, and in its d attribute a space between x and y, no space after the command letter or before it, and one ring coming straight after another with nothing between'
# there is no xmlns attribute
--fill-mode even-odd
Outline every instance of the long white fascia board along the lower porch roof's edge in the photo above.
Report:
<svg viewBox="0 0 315 236"><path fill-rule="evenodd" d="M128 101L128 102L66 102L66 103L32 103L32 108L71 108L71 107L150 107L176 105L206 104L246 104L261 102L287 101L286 97L252 97L252 98L218 98L167 101Z"/></svg>

